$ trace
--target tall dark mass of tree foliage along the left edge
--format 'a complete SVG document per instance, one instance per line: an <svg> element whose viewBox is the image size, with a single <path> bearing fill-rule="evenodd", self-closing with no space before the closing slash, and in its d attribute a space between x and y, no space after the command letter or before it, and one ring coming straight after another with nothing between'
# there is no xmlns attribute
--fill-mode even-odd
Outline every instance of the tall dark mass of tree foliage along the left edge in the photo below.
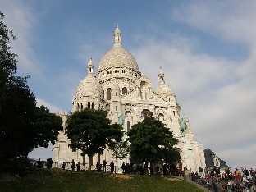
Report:
<svg viewBox="0 0 256 192"><path fill-rule="evenodd" d="M36 107L28 76L16 76L17 55L9 45L16 37L3 18L0 11L0 171L11 171L17 163L25 162L34 147L53 143L62 121L46 107Z"/></svg>

